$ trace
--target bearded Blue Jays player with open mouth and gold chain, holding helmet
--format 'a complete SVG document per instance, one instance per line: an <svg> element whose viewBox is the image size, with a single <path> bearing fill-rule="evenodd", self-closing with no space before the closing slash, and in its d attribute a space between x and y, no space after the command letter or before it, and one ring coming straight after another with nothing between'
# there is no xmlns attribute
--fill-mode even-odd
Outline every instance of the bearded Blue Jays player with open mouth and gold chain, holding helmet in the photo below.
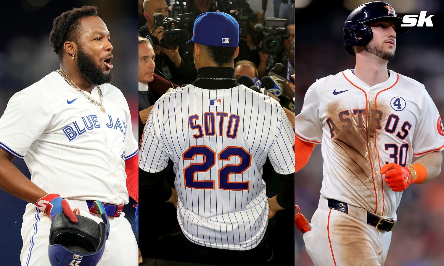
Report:
<svg viewBox="0 0 444 266"><path fill-rule="evenodd" d="M21 264L48 266L49 229L63 212L96 222L100 200L111 234L99 265L137 265L131 225L122 212L128 192L137 199L137 141L128 104L111 81L113 47L93 6L58 16L50 44L60 68L14 94L0 118L1 188L26 200ZM24 158L28 180L12 163ZM91 213L90 213L91 211ZM77 256L71 265L81 265Z"/></svg>

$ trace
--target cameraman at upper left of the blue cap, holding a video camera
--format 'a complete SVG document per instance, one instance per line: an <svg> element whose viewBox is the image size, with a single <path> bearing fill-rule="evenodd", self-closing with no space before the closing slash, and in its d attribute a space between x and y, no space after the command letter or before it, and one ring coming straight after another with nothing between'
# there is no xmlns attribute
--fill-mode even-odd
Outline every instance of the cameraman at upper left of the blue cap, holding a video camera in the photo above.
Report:
<svg viewBox="0 0 444 266"><path fill-rule="evenodd" d="M191 83L197 75L190 56L187 56L185 46L181 47L162 47L160 45L165 33L164 27L155 25L153 15L161 13L165 18L169 17L168 6L165 0L144 0L143 16L147 23L140 27L139 36L146 37L150 35L154 44L156 55L156 70L163 73L172 82L177 84Z"/></svg>

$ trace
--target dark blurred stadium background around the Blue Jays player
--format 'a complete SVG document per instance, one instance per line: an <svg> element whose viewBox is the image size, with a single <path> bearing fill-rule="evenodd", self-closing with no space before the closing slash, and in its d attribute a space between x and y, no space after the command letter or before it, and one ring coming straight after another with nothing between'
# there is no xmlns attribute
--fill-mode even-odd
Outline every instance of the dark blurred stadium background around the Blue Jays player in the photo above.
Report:
<svg viewBox="0 0 444 266"><path fill-rule="evenodd" d="M59 69L59 60L49 45L52 20L62 12L83 5L98 7L99 16L107 24L114 47L114 79L111 82L122 90L127 98L132 116L133 132L138 132L137 96L137 47L138 20L137 2L119 0L17 0L2 3L0 41L0 115L9 98L19 90L37 82L51 71ZM129 49L129 48L132 49ZM55 88L56 89L56 88ZM137 137L136 137L137 139ZM30 177L23 160L14 164ZM61 177L63 178L63 177ZM0 265L20 265L21 220L27 204L0 189L2 219L0 219ZM125 206L125 216L133 223L134 211L131 201ZM134 229L135 231L135 229Z"/></svg>

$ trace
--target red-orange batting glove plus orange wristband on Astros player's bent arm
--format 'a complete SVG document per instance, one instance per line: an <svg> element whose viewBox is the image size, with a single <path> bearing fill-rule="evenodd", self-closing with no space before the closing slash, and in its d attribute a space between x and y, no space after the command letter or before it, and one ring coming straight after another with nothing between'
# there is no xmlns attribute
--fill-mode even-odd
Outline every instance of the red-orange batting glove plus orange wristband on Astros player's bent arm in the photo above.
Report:
<svg viewBox="0 0 444 266"><path fill-rule="evenodd" d="M395 192L404 191L412 183L422 183L426 176L427 170L422 164L414 164L416 178L412 179L412 173L407 166L390 163L385 164L381 168L381 175L385 174L385 183Z"/></svg>

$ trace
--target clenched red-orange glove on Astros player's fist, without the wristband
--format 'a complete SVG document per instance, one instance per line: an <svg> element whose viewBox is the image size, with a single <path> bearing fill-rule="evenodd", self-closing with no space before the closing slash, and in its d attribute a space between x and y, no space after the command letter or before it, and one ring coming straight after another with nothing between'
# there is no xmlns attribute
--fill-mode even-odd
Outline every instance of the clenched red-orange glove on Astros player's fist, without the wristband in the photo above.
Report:
<svg viewBox="0 0 444 266"><path fill-rule="evenodd" d="M395 163L385 164L380 173L385 174L385 183L395 192L404 191L412 184L412 173L406 166Z"/></svg>

